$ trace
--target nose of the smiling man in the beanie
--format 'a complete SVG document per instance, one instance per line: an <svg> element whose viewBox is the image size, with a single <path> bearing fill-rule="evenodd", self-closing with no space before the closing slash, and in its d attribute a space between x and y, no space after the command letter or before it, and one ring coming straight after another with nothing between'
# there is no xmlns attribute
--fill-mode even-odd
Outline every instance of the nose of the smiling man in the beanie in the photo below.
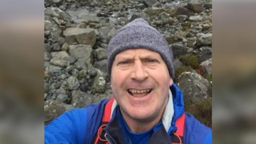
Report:
<svg viewBox="0 0 256 144"><path fill-rule="evenodd" d="M148 73L145 67L143 66L143 63L141 62L141 60L134 61L131 78L139 82L142 82L148 78Z"/></svg>

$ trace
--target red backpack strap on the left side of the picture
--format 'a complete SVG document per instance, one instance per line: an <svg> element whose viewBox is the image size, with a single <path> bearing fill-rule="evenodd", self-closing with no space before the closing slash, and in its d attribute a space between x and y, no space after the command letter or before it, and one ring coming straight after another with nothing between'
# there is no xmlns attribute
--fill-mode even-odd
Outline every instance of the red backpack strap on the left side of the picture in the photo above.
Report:
<svg viewBox="0 0 256 144"><path fill-rule="evenodd" d="M111 98L104 106L103 116L101 119L99 129L98 129L96 135L94 136L94 144L101 144L101 143L108 144L109 143L106 140L106 138L104 137L104 133L102 133L102 132L105 131L105 127L107 126L107 123L111 119L111 108L112 108L114 100L115 100L114 98Z"/></svg>

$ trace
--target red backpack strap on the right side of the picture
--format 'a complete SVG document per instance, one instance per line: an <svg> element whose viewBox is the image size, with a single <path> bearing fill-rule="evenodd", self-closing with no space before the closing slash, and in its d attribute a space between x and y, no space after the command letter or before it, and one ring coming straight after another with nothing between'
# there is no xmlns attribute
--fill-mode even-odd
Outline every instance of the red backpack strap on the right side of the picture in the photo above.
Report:
<svg viewBox="0 0 256 144"><path fill-rule="evenodd" d="M173 144L181 144L183 143L183 135L184 135L184 127L185 127L185 119L186 119L186 114L182 114L175 123L175 126L177 127L177 131L174 132L175 136L174 138L177 139L179 142L172 142Z"/></svg>

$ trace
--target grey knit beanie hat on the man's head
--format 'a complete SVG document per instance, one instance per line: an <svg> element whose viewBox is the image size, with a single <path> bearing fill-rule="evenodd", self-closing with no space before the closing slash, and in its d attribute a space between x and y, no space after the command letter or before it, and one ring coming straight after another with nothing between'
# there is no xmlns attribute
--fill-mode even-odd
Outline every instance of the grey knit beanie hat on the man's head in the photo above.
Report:
<svg viewBox="0 0 256 144"><path fill-rule="evenodd" d="M139 18L127 23L119 29L110 39L108 44L108 62L107 69L111 75L111 67L116 54L128 49L148 49L157 52L165 61L170 76L174 78L173 53L165 38L147 21Z"/></svg>

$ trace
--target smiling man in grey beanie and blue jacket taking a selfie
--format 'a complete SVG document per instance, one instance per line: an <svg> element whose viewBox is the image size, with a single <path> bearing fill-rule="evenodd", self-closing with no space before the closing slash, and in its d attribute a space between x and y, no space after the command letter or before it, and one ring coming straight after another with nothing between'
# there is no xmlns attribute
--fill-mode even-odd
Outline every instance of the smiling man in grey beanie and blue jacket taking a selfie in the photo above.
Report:
<svg viewBox="0 0 256 144"><path fill-rule="evenodd" d="M212 143L211 129L184 111L172 61L155 28L128 23L108 45L114 99L62 114L45 126L45 143Z"/></svg>

